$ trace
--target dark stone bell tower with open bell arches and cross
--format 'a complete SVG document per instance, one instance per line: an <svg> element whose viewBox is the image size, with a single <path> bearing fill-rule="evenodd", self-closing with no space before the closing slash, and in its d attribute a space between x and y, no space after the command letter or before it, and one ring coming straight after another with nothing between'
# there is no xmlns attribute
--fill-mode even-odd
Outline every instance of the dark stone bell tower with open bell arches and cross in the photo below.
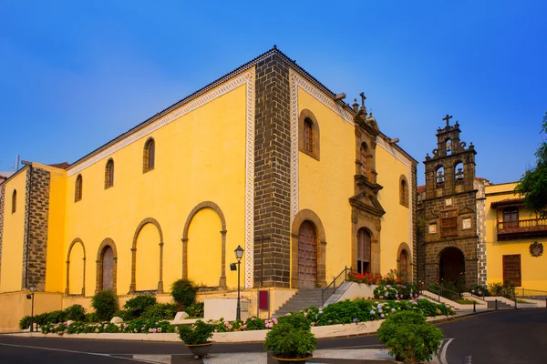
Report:
<svg viewBox="0 0 547 364"><path fill-rule="evenodd" d="M459 139L459 124L437 130L437 148L427 155L425 193L418 206L418 279L477 284L478 245L475 155Z"/></svg>

